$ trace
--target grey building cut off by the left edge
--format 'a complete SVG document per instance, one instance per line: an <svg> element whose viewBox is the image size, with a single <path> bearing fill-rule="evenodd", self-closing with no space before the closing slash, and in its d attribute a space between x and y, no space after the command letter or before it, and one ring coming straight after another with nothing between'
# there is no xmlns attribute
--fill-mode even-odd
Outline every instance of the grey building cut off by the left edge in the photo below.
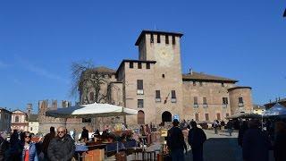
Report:
<svg viewBox="0 0 286 161"><path fill-rule="evenodd" d="M0 107L0 131L11 131L12 112Z"/></svg>

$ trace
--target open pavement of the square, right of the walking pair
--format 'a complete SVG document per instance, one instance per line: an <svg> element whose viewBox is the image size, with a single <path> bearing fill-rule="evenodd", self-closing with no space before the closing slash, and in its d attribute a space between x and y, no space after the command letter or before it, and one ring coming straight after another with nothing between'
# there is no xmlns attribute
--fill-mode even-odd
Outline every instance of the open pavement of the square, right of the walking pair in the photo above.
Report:
<svg viewBox="0 0 286 161"><path fill-rule="evenodd" d="M218 134L214 134L214 131L205 132L207 137L204 144L205 161L242 161L241 148L237 143L238 132L233 132L232 136L224 131L220 131ZM270 156L270 161L272 161L272 152ZM192 160L191 150L189 150L185 160Z"/></svg>

